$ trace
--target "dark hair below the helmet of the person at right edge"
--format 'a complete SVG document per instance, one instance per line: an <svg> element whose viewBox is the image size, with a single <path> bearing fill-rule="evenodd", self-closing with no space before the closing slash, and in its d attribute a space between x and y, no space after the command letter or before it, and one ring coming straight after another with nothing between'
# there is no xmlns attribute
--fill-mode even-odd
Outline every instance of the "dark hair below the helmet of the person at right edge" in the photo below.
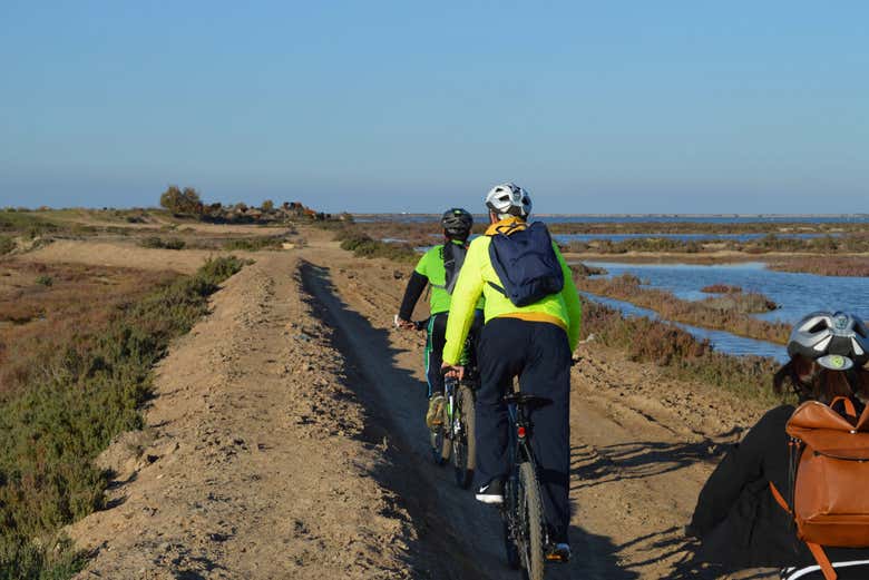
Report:
<svg viewBox="0 0 869 580"><path fill-rule="evenodd" d="M811 358L797 354L772 377L772 390L782 394L785 381L790 382L801 403L820 401L829 404L837 396L869 400L869 370L866 368L855 368L848 373L830 371Z"/></svg>

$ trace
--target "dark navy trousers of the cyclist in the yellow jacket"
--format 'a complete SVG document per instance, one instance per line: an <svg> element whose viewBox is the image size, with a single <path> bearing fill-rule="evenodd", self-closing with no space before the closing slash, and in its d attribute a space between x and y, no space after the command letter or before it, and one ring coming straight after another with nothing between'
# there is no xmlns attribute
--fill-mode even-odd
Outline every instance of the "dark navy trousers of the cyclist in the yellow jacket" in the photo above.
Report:
<svg viewBox="0 0 869 580"><path fill-rule="evenodd" d="M570 347L555 324L494 318L479 343L480 390L477 393L477 473L481 484L509 471L509 422L504 395L519 377L523 393L550 404L530 411L531 449L538 463L544 509L553 540L567 541L570 471Z"/></svg>

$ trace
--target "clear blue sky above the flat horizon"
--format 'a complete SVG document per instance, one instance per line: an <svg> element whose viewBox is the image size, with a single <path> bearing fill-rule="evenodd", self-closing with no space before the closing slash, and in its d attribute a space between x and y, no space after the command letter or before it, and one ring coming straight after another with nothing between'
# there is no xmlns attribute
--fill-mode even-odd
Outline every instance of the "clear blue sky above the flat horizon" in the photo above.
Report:
<svg viewBox="0 0 869 580"><path fill-rule="evenodd" d="M540 213L869 212L869 2L0 1L0 205L501 180Z"/></svg>

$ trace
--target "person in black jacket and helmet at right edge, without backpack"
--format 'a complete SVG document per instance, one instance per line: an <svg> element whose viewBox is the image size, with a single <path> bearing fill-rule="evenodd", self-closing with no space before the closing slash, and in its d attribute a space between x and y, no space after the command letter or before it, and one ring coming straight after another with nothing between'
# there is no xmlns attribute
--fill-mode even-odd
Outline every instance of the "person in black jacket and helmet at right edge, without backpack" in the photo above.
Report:
<svg viewBox="0 0 869 580"><path fill-rule="evenodd" d="M830 336L824 346L823 340ZM862 366L869 358L869 330L859 318L842 313L811 314L794 327L788 352L790 361L773 380L777 393L789 382L800 402L829 404L836 396L848 396L859 415L869 400L869 370ZM792 518L770 491L770 482L782 493L789 490L784 427L794 409L781 405L763 415L703 486L686 528L689 535L700 539L695 562L731 571L782 568L782 578L789 580L823 578L805 543L797 538ZM836 405L833 409L842 412ZM869 530L867 549L824 547L824 551L840 580L869 578Z"/></svg>

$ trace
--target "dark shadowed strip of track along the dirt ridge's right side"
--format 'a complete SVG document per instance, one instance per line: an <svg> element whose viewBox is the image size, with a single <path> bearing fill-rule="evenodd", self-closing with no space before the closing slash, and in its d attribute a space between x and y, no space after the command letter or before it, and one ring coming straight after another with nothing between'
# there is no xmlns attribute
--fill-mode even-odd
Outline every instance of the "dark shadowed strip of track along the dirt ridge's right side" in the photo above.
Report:
<svg viewBox="0 0 869 580"><path fill-rule="evenodd" d="M303 264L302 279L322 318L338 331L336 346L354 366L353 389L369 410L370 429L389 441L394 452L399 469L384 483L403 498L414 515L423 530L420 541L441 557L443 569L432 578L495 580L511 574L499 551L497 511L479 505L469 491L459 490L449 466L432 463L422 421L424 397L413 396L409 386L416 386L417 381L392 365L388 338L340 301L328 269Z"/></svg>

